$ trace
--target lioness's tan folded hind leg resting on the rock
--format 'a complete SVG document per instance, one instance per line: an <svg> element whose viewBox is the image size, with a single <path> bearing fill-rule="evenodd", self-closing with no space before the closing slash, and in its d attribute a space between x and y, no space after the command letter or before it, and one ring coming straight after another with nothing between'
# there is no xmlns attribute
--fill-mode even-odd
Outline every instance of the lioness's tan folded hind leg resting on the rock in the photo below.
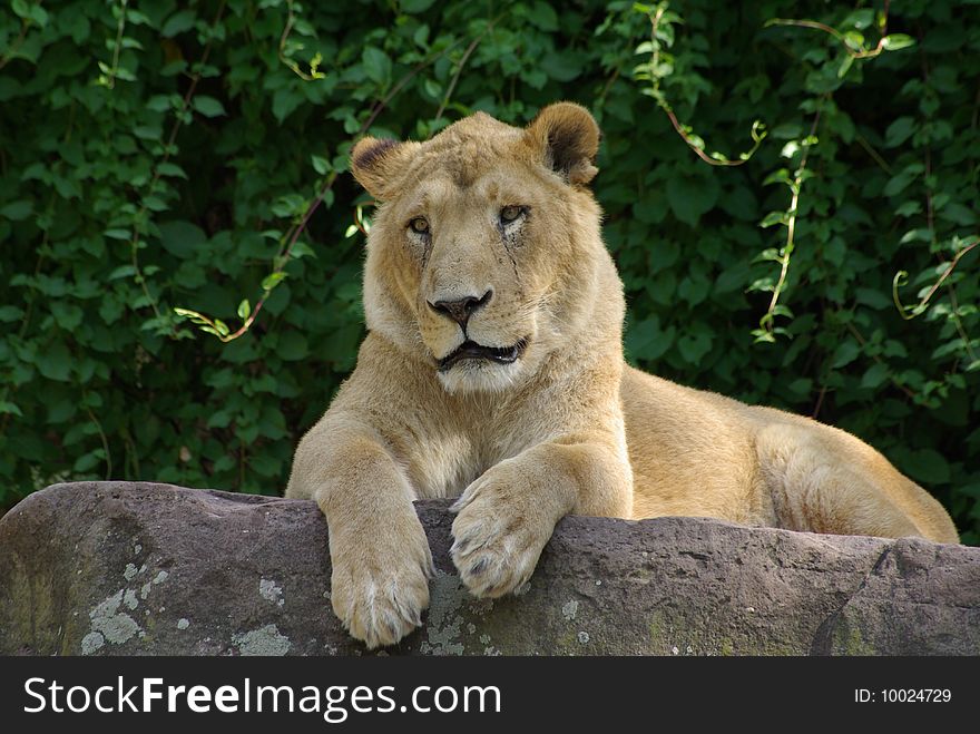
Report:
<svg viewBox="0 0 980 734"><path fill-rule="evenodd" d="M836 432L824 434L824 429L772 423L757 435L764 491L772 495L780 527L832 535L923 536L875 476L885 473L882 468L871 466L865 451ZM846 438L875 453L857 439ZM904 479L888 468L896 480Z"/></svg>

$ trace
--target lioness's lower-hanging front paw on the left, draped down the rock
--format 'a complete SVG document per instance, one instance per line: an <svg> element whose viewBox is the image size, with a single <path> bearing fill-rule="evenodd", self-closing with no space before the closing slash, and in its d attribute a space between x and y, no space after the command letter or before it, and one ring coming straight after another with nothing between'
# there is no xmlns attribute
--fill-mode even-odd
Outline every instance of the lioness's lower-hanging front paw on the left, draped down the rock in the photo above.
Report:
<svg viewBox="0 0 980 734"><path fill-rule="evenodd" d="M411 540L355 538L331 548L331 603L344 628L369 649L393 645L422 624L432 555L425 534Z"/></svg>

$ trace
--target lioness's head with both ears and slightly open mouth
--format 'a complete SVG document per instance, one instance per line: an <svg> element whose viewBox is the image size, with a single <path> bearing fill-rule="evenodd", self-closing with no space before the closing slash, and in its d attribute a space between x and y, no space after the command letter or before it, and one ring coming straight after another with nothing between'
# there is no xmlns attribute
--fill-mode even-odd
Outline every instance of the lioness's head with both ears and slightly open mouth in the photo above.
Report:
<svg viewBox="0 0 980 734"><path fill-rule="evenodd" d="M424 144L362 140L354 174L383 202L369 327L418 351L451 392L535 373L570 337L568 301L598 241L581 188L597 145L592 118L567 104L527 129L474 115Z"/></svg>

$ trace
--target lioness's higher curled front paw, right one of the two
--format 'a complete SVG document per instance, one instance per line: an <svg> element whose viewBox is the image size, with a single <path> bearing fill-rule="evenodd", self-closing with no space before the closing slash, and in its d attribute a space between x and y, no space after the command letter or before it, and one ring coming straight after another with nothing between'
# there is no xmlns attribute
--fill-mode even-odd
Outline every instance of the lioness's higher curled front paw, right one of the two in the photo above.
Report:
<svg viewBox="0 0 980 734"><path fill-rule="evenodd" d="M494 481L488 472L453 505L454 542L450 552L467 588L478 597L499 597L527 581L551 528L536 527L516 501L510 483Z"/></svg>

